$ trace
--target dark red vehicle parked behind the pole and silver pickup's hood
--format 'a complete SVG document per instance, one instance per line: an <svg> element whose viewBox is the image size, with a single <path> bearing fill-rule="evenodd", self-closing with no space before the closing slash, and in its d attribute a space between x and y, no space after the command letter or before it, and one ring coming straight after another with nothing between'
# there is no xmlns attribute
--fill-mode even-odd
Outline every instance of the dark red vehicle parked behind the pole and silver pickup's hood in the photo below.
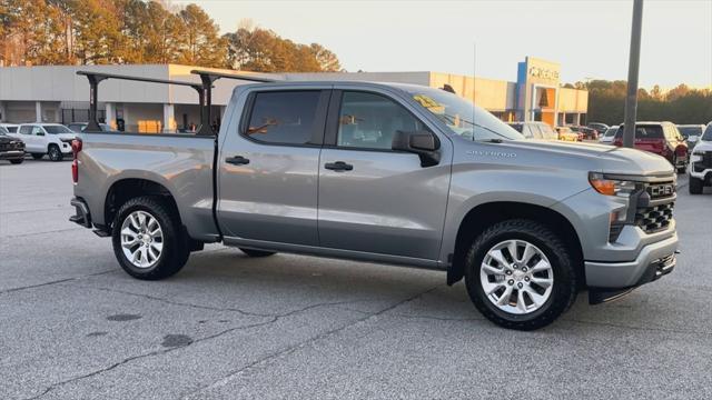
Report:
<svg viewBox="0 0 712 400"><path fill-rule="evenodd" d="M623 146L624 130L621 124L613 144ZM672 122L636 122L634 146L639 150L664 157L680 173L688 169L688 143Z"/></svg>

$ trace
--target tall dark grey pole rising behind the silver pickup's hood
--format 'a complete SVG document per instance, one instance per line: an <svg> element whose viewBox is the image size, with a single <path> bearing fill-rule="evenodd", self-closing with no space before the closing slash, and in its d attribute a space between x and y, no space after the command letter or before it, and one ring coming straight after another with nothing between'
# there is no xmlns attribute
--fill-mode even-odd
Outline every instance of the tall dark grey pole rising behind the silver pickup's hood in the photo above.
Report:
<svg viewBox="0 0 712 400"><path fill-rule="evenodd" d="M643 0L633 1L633 29L631 31L631 56L627 64L627 96L625 97L625 126L623 147L632 148L635 141L635 117L637 114L637 72L641 61L641 29L643 27Z"/></svg>

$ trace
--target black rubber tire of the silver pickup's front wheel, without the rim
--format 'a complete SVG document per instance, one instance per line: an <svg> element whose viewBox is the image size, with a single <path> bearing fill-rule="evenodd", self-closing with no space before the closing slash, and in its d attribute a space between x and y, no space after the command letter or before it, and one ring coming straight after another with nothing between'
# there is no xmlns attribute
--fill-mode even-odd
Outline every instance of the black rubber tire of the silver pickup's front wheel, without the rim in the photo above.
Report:
<svg viewBox="0 0 712 400"><path fill-rule="evenodd" d="M525 240L548 259L554 282L548 299L528 313L510 313L493 304L482 288L479 272L486 253L506 240ZM534 330L552 323L576 300L578 277L571 251L563 240L546 226L525 219L497 222L477 237L465 258L465 284L477 310L492 322L507 329Z"/></svg>

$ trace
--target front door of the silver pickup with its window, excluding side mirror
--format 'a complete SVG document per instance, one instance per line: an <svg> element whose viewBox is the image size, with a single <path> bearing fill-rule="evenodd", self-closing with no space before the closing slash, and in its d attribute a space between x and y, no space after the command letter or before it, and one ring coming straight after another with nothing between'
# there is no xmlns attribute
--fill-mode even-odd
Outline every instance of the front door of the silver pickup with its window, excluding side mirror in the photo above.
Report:
<svg viewBox="0 0 712 400"><path fill-rule="evenodd" d="M337 90L332 103L319 163L320 246L436 260L449 160L422 167L417 154L392 150L396 131L428 128L385 93Z"/></svg>

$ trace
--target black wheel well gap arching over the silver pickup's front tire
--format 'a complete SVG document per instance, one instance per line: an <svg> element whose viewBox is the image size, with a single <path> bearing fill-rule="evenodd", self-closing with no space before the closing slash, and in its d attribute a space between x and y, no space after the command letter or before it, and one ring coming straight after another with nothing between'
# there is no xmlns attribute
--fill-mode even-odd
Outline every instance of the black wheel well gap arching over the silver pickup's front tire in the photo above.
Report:
<svg viewBox="0 0 712 400"><path fill-rule="evenodd" d="M560 234L573 254L573 263L578 281L585 286L583 250L581 239L566 217L551 208L516 201L495 201L472 208L461 220L455 239L452 261L447 267L447 284L454 284L464 277L465 254L469 243L493 223L523 218L537 221Z"/></svg>

